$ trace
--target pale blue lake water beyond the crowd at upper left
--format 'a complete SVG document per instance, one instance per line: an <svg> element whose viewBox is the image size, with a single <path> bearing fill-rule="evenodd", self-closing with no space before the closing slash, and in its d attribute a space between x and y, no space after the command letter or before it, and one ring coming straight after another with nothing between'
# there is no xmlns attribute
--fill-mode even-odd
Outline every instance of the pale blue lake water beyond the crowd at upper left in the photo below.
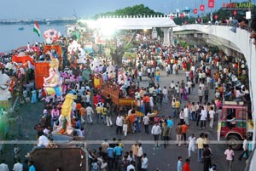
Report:
<svg viewBox="0 0 256 171"><path fill-rule="evenodd" d="M23 27L24 30L19 30ZM0 53L11 49L26 46L27 43L44 41L44 31L55 29L60 31L61 35L66 35L66 26L64 25L40 25L41 37L33 32L33 25L0 25Z"/></svg>

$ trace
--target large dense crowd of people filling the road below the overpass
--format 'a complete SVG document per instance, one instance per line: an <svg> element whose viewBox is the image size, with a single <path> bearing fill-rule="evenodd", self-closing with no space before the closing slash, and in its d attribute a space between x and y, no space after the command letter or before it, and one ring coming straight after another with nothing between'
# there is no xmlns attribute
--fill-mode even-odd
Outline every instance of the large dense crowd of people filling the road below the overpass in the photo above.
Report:
<svg viewBox="0 0 256 171"><path fill-rule="evenodd" d="M67 43L67 42L65 42ZM36 45L40 46L40 45ZM66 44L63 47L67 47ZM202 132L212 129L215 120L218 120L224 100L245 101L249 103L248 85L241 82L240 78L247 77L247 64L245 60L230 57L222 51L212 52L207 47L189 48L174 46L163 46L160 43L140 43L136 47L137 58L123 62L123 68L114 69L108 73L110 62L102 60L100 66L92 69L88 63L93 60L88 59L87 64L71 64L61 71L61 96L49 96L44 88L36 89L33 78L33 70L27 65L15 64L12 62L11 54L2 56L2 73L8 74L15 80L13 96L19 96L19 104L35 103L44 101L44 111L42 111L42 123L35 126L38 131L38 145L35 148L58 148L52 139L58 125L61 123L61 106L66 94L74 94L77 99L73 101L71 113L72 137L77 140L84 140L86 128L90 124L104 123L107 127L115 127L116 134L129 136L144 132L154 135L155 147L163 142L166 148L169 140L177 140L177 146L188 145L188 157L191 151L197 149L198 162L203 162L204 170L212 168L217 170L212 164L211 145L207 139L207 134L200 134L195 138L195 134L190 134L187 138L187 131L191 123L196 123ZM34 52L25 52L40 60L42 55L37 56ZM78 52L71 54L71 61L76 60ZM42 47L40 54L42 54ZM41 56L41 57L40 57ZM44 56L43 56L44 57ZM42 57L42 59L43 59ZM47 56L46 56L47 57ZM41 60L42 60L41 59ZM103 59L103 58L102 58ZM45 59L43 59L45 60ZM49 60L49 59L48 59ZM90 71L90 74L87 74ZM175 83L172 77L184 72L183 80ZM162 73L170 77L170 84L161 83ZM132 98L136 100L136 105L128 111L119 111L114 108L110 96L104 97L100 89L94 88L90 80L96 74L101 74L105 82L112 82L119 87L120 98ZM148 77L147 87L140 86L143 79ZM195 89L198 89L195 91ZM131 91L132 90L132 91ZM211 99L210 91L214 91ZM191 96L198 96L197 101L189 100ZM154 112L163 113L165 105L172 106L172 115L159 116L152 115ZM138 116L137 111L143 113ZM231 116L230 116L231 117ZM248 116L250 117L250 116ZM17 121L22 121L20 115ZM209 125L207 125L209 120ZM177 121L177 122L176 122ZM174 123L175 122L175 123ZM149 125L153 124L151 130ZM176 124L177 123L177 124ZM63 123L62 123L63 124ZM142 128L143 127L143 128ZM191 130L192 131L192 130ZM190 132L191 132L190 131ZM65 134L65 133L62 133ZM19 128L19 135L22 136L22 128ZM247 138L250 140L250 137ZM248 143L243 146L244 151L248 150ZM147 170L147 154L143 151L143 145L136 142L131 145L131 151L123 151L121 140L108 143L104 140L98 151L90 152L90 170ZM20 156L17 153L15 162L20 163ZM248 157L248 152L246 152ZM30 154L26 157L29 158ZM225 151L226 159L230 163L230 170L234 152L231 147ZM177 170L189 171L189 158L182 164L182 157L178 157ZM3 167L4 161L0 164ZM15 163L14 170L18 170ZM33 165L30 162L29 165ZM24 166L24 165L23 165ZM61 170L61 168L56 168ZM2 169L0 169L2 170ZM7 170L7 169L3 169ZM27 170L27 168L23 168ZM32 170L30 168L30 170Z"/></svg>

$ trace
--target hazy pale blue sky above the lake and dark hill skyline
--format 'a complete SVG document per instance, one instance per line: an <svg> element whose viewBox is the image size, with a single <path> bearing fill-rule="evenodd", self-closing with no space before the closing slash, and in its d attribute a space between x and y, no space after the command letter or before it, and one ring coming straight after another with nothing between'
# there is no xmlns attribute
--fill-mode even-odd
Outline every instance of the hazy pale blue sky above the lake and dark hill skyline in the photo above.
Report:
<svg viewBox="0 0 256 171"><path fill-rule="evenodd" d="M243 1L233 0L233 2ZM199 9L201 2L206 5L206 10L210 11L207 8L208 0L0 0L0 19L53 19L71 17L75 13L79 17L92 17L95 14L112 12L142 3L149 9L169 14L182 7ZM219 9L222 3L229 2L230 0L215 0L215 9L212 10Z"/></svg>

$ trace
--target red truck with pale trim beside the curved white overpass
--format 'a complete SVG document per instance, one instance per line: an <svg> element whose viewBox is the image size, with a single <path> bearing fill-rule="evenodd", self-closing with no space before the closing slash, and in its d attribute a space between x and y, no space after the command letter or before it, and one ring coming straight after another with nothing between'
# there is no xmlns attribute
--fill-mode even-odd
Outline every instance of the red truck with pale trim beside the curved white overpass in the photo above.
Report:
<svg viewBox="0 0 256 171"><path fill-rule="evenodd" d="M245 136L253 134L253 120L244 102L224 101L218 119L218 140L224 138L234 150L241 149Z"/></svg>

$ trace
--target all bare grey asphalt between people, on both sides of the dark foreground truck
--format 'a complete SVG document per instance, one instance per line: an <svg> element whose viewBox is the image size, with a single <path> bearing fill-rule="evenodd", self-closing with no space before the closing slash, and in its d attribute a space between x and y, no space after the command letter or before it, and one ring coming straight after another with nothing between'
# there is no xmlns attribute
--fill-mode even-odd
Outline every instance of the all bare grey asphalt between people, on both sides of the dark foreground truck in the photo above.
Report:
<svg viewBox="0 0 256 171"><path fill-rule="evenodd" d="M166 77L166 73L164 71L161 72L160 77L160 87L163 88L164 86L168 87L173 80L175 83L177 81L181 81L182 79L185 80L185 74L183 71L180 71L178 75L176 76L169 76ZM148 86L148 78L143 77L143 83L141 83L141 86ZM195 92L197 90L197 86L195 89ZM212 90L210 91L210 94L213 94ZM209 101L211 101L213 96L211 95L209 97ZM198 101L198 96L192 95L189 96L190 101ZM185 105L186 102L183 101L183 105ZM29 104L29 105L22 105L20 106L20 113L23 116L24 125L23 125L23 132L24 136L22 138L17 137L15 135L17 133L17 128L14 125L10 128L10 140L35 140L36 137L36 131L33 130L33 127L36 123L40 122L40 115L43 111L43 104L37 103L37 104ZM164 105L163 109L160 111L160 116L170 116L172 114L171 105ZM115 118L113 118L113 122L115 121ZM175 120L175 123L178 121ZM210 130L209 127L206 129L203 129L204 133L207 133L209 135L209 140L217 140L217 122L214 123L215 127L213 130ZM207 123L208 126L208 123ZM150 127L151 128L151 127ZM174 130L172 131L174 133ZM195 126L194 122L190 122L189 131L188 134L194 133L196 137L201 134L202 130L197 128ZM113 137L117 139L122 139L124 142L133 143L137 140L143 141L143 140L153 140L152 135L137 133L137 134L128 134L126 137L122 135L116 135L115 134L115 128L110 128L105 125L101 124L93 124L93 125L85 125L85 139L86 140L96 140L96 144L88 144L89 148L95 148L97 149L98 146L102 143L102 140L108 139L112 140ZM174 137L175 138L175 137ZM14 141L15 142L15 141ZM21 158L23 159L23 155L26 154L27 151L30 151L32 149L32 145L20 145L22 149L22 155ZM218 170L225 171L227 170L227 163L225 161L224 157L224 150L226 148L226 145L210 145L212 148L212 152L214 157L212 158L212 163L216 163L218 165ZM131 144L125 143L124 151L130 151ZM160 168L161 171L172 171L177 169L177 157L181 156L183 157L183 160L188 157L188 151L185 145L182 147L177 147L176 145L168 145L166 149L163 148L163 145L161 145L159 148L155 148L153 144L143 144L143 151L148 154L148 170L154 171L156 168ZM245 162L239 162L237 160L238 154L240 154L241 151L235 151L236 160L233 163L233 171L243 170L245 168ZM12 156L12 145L5 145L3 149L3 156L7 159L7 162L9 163L9 168L12 169L13 167L13 156ZM191 162L190 162L191 170L198 171L203 170L203 164L198 163L196 160L196 156L192 155Z"/></svg>

